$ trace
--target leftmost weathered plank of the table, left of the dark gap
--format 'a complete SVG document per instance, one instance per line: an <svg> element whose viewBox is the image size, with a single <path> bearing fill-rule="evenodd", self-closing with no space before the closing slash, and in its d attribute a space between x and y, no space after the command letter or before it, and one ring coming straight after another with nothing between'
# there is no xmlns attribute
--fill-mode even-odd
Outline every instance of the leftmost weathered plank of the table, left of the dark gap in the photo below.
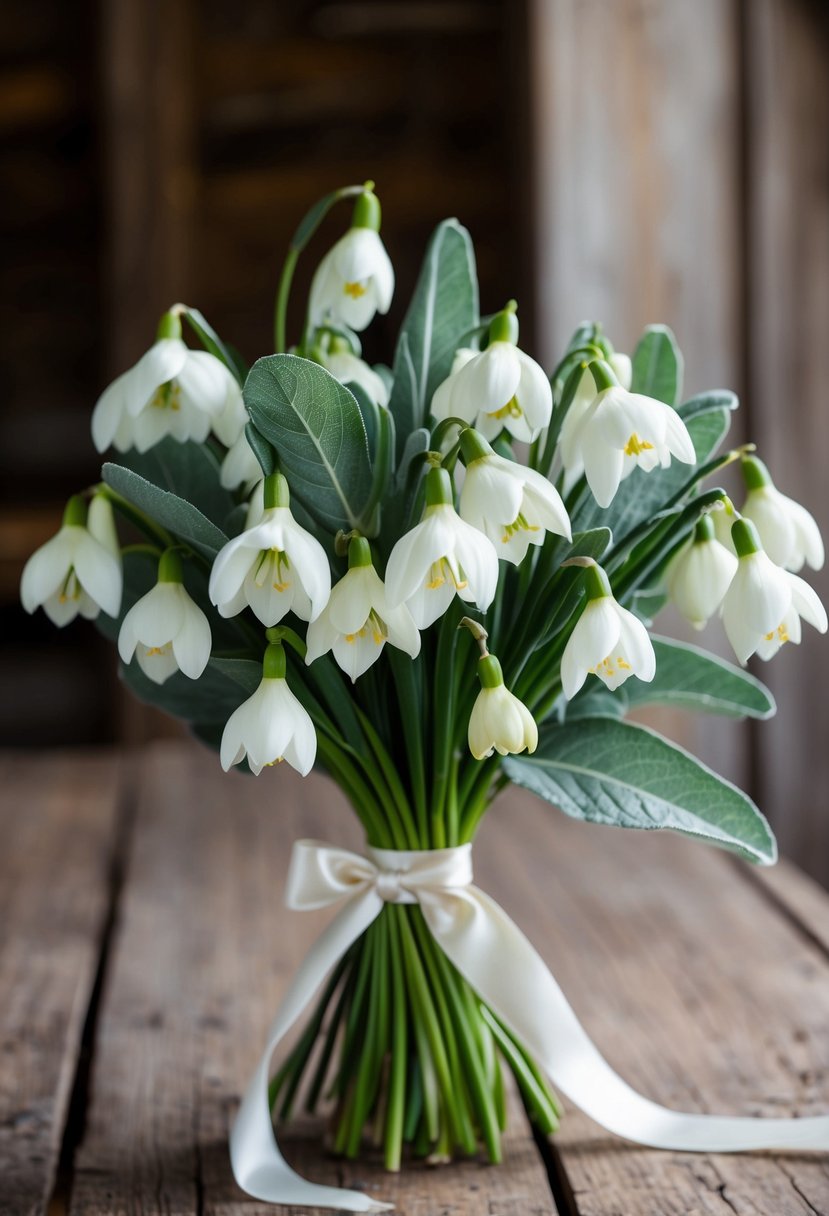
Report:
<svg viewBox="0 0 829 1216"><path fill-rule="evenodd" d="M0 1211L43 1214L109 910L123 766L0 759Z"/></svg>

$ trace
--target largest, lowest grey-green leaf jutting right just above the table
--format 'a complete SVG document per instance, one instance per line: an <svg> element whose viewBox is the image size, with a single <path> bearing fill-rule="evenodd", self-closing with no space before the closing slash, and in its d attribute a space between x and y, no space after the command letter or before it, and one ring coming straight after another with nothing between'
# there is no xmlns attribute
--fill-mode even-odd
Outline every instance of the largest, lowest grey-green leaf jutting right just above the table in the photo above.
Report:
<svg viewBox="0 0 829 1216"><path fill-rule="evenodd" d="M772 865L768 823L735 786L644 726L583 719L541 732L537 751L507 756L511 781L590 823L667 829Z"/></svg>

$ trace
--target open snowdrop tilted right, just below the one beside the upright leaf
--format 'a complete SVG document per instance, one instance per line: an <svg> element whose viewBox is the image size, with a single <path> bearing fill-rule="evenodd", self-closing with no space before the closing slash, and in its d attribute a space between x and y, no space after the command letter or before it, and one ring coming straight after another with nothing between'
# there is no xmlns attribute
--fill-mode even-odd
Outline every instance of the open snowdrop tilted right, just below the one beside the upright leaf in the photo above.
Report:
<svg viewBox="0 0 829 1216"><path fill-rule="evenodd" d="M461 433L467 475L461 518L495 545L498 557L518 565L547 531L570 540L570 520L554 485L524 465L497 456L476 430Z"/></svg>

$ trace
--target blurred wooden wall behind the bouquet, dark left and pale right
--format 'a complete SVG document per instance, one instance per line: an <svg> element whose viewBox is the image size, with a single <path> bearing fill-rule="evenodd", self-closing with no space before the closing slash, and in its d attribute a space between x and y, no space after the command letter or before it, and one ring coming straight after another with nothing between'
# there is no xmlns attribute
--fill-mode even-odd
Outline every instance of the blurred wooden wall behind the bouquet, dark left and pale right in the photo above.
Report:
<svg viewBox="0 0 829 1216"><path fill-rule="evenodd" d="M10 6L4 741L163 728L122 698L91 627L22 613L22 563L96 477L91 406L159 313L185 299L264 353L284 244L346 181L376 179L397 270L372 356L390 355L430 229L457 214L485 308L517 295L530 349L551 362L587 316L622 350L667 322L688 390L738 389L738 438L829 531L828 52L822 0ZM825 572L813 581L829 599ZM829 882L829 646L807 635L761 675L773 722L661 725L749 787L783 849Z"/></svg>

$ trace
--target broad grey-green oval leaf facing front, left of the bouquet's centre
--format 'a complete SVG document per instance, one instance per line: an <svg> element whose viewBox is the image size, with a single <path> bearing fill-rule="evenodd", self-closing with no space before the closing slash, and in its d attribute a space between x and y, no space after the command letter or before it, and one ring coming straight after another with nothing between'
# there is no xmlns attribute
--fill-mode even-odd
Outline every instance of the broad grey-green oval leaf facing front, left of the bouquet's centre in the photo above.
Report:
<svg viewBox="0 0 829 1216"><path fill-rule="evenodd" d="M354 394L318 364L267 355L250 368L244 401L292 495L331 533L359 527L372 472Z"/></svg>

